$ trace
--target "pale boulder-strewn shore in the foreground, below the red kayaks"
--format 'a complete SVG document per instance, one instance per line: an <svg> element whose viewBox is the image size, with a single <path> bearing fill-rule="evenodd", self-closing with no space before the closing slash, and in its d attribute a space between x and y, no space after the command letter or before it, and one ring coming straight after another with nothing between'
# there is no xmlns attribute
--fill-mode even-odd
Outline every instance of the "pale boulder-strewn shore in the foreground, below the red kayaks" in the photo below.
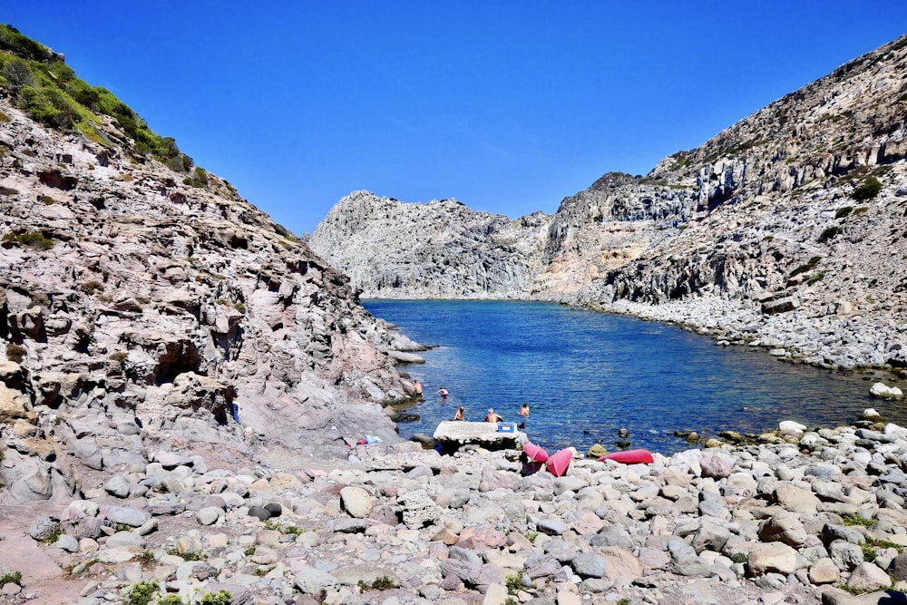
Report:
<svg viewBox="0 0 907 605"><path fill-rule="evenodd" d="M0 602L905 602L907 429L775 442L560 478L412 443L282 468L149 452L0 512Z"/></svg>

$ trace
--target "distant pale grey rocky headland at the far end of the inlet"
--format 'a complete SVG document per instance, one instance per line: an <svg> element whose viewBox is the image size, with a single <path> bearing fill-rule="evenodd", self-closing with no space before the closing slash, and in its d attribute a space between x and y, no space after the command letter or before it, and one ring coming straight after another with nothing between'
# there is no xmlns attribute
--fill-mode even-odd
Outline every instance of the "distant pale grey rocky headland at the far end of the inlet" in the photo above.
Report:
<svg viewBox="0 0 907 605"><path fill-rule="evenodd" d="M522 297L551 217L519 220L456 200L410 204L355 191L309 239L366 298Z"/></svg>

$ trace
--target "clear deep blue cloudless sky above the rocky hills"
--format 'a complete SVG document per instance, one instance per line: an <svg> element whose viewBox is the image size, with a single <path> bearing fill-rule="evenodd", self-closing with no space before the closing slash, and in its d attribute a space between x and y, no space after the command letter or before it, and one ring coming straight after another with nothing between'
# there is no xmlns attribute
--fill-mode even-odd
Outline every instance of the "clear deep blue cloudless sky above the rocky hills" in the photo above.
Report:
<svg viewBox="0 0 907 605"><path fill-rule="evenodd" d="M0 20L301 235L359 189L551 213L907 33L907 2L11 0Z"/></svg>

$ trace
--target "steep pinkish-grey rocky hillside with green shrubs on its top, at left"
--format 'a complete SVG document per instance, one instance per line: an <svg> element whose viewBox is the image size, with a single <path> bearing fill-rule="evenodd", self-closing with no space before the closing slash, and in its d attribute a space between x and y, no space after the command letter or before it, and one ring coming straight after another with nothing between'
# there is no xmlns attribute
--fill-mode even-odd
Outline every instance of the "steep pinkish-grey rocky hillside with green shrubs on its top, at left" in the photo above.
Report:
<svg viewBox="0 0 907 605"><path fill-rule="evenodd" d="M13 34L0 31L0 502L64 498L149 448L236 462L395 440L382 405L411 386L382 351L413 343L229 182L59 55L16 54Z"/></svg>

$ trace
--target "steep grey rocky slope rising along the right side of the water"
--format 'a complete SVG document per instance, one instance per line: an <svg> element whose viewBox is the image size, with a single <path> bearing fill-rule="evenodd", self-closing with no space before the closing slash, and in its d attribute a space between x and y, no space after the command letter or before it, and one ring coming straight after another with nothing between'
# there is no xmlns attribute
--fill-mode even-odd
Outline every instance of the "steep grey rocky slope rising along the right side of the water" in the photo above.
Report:
<svg viewBox="0 0 907 605"><path fill-rule="evenodd" d="M647 179L689 183L692 220L580 301L717 298L718 317L743 311L712 322L731 340L763 337L818 365L903 366L905 91L902 37L663 161ZM675 318L697 315L686 307Z"/></svg>

